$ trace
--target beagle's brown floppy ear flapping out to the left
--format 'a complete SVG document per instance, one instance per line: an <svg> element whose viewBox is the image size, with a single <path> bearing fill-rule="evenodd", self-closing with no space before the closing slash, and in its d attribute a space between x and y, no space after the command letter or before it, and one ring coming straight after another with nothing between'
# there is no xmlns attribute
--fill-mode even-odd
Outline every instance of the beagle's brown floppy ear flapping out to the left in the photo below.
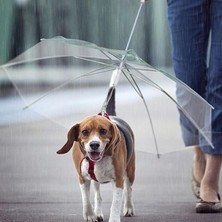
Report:
<svg viewBox="0 0 222 222"><path fill-rule="evenodd" d="M69 130L67 135L67 142L60 150L57 151L57 154L64 154L69 152L69 150L72 148L74 141L78 141L78 136L79 124L76 124Z"/></svg>

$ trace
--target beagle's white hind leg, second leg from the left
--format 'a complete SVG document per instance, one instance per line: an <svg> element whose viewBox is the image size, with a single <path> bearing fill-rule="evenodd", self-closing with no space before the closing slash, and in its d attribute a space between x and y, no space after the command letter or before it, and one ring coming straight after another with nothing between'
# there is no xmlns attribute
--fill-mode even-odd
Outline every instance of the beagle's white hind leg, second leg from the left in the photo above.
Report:
<svg viewBox="0 0 222 222"><path fill-rule="evenodd" d="M102 212L102 197L100 194L100 184L97 183L96 181L92 181L94 185L94 190L95 190L95 197L94 197L94 212L97 216L97 220L103 221L103 212Z"/></svg>

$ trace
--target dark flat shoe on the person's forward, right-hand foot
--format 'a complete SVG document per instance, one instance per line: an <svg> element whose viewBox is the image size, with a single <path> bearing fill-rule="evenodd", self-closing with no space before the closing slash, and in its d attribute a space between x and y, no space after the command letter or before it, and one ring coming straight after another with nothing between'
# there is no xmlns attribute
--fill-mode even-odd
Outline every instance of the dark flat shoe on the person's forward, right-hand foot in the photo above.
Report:
<svg viewBox="0 0 222 222"><path fill-rule="evenodd" d="M196 213L221 213L222 202L220 195L217 194L219 202L207 202L200 199L196 204Z"/></svg>

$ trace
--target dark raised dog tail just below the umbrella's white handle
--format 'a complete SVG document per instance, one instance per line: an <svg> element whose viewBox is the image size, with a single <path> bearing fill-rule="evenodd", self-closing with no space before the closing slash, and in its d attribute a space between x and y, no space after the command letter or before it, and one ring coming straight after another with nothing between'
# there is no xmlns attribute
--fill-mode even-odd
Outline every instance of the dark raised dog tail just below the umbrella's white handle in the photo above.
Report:
<svg viewBox="0 0 222 222"><path fill-rule="evenodd" d="M111 86L109 88L109 91L107 93L106 101L107 101L107 106L106 106L106 112L110 116L116 116L116 102L115 102L115 93L116 89L114 86Z"/></svg>

